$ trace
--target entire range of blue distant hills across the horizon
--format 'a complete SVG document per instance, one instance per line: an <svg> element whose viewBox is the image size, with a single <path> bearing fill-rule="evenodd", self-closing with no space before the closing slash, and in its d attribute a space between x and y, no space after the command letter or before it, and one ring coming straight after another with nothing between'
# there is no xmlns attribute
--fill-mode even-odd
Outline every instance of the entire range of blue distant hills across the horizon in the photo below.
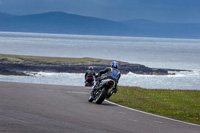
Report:
<svg viewBox="0 0 200 133"><path fill-rule="evenodd" d="M157 23L148 20L110 21L63 12L33 15L0 13L0 31L200 38L200 24Z"/></svg>

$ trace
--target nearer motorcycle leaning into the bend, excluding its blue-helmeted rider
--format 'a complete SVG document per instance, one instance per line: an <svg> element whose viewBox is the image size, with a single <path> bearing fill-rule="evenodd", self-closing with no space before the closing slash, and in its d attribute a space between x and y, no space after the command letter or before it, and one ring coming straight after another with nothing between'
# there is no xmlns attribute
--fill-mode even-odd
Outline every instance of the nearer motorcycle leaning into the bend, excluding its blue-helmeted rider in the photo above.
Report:
<svg viewBox="0 0 200 133"><path fill-rule="evenodd" d="M91 92L88 101L92 102L95 100L97 104L101 104L105 98L109 98L112 94L112 88L115 86L115 81L113 79L104 79L100 82L98 86L95 86Z"/></svg>

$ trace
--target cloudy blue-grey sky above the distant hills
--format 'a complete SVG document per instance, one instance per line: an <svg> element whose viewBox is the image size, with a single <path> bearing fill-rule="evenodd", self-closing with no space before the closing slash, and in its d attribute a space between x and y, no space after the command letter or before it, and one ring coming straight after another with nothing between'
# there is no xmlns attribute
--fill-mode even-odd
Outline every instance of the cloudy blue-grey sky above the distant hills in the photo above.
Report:
<svg viewBox="0 0 200 133"><path fill-rule="evenodd" d="M200 0L0 0L0 12L62 11L109 20L200 22Z"/></svg>

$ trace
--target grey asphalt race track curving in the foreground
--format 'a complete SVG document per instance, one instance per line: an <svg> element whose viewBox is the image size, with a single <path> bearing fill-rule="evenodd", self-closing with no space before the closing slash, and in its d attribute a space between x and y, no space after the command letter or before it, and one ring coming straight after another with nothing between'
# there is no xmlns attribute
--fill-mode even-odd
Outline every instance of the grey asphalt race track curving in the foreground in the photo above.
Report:
<svg viewBox="0 0 200 133"><path fill-rule="evenodd" d="M200 133L182 123L103 102L90 88L0 82L1 133Z"/></svg>

